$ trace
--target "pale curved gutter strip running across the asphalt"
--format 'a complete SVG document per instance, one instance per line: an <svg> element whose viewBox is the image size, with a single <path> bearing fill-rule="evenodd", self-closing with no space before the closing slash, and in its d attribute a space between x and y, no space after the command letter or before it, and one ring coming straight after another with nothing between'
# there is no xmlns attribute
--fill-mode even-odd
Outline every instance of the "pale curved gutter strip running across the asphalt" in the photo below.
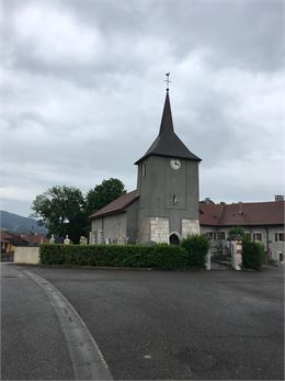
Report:
<svg viewBox="0 0 285 381"><path fill-rule="evenodd" d="M113 376L86 323L50 282L23 270L49 299L62 326L76 380L113 380Z"/></svg>

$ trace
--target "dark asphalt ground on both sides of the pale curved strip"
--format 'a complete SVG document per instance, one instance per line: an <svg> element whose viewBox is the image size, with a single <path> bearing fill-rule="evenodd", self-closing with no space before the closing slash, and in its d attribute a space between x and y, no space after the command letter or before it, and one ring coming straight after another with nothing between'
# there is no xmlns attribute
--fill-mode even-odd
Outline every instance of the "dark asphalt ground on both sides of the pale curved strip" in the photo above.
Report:
<svg viewBox="0 0 285 381"><path fill-rule="evenodd" d="M72 379L53 307L32 280L19 278L21 267L9 268L20 271L2 282L2 379ZM282 268L23 268L47 279L69 300L114 379L284 378Z"/></svg>

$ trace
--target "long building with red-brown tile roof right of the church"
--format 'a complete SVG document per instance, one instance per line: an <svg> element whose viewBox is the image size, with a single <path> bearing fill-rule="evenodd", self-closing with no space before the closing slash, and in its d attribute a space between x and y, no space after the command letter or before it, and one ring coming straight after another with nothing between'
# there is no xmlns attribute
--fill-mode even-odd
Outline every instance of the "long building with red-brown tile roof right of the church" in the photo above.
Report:
<svg viewBox="0 0 285 381"><path fill-rule="evenodd" d="M267 259L284 258L285 202L276 197L271 202L238 202L232 204L200 203L202 233L212 240L213 251L223 251L231 227L243 227L254 242L263 243Z"/></svg>

